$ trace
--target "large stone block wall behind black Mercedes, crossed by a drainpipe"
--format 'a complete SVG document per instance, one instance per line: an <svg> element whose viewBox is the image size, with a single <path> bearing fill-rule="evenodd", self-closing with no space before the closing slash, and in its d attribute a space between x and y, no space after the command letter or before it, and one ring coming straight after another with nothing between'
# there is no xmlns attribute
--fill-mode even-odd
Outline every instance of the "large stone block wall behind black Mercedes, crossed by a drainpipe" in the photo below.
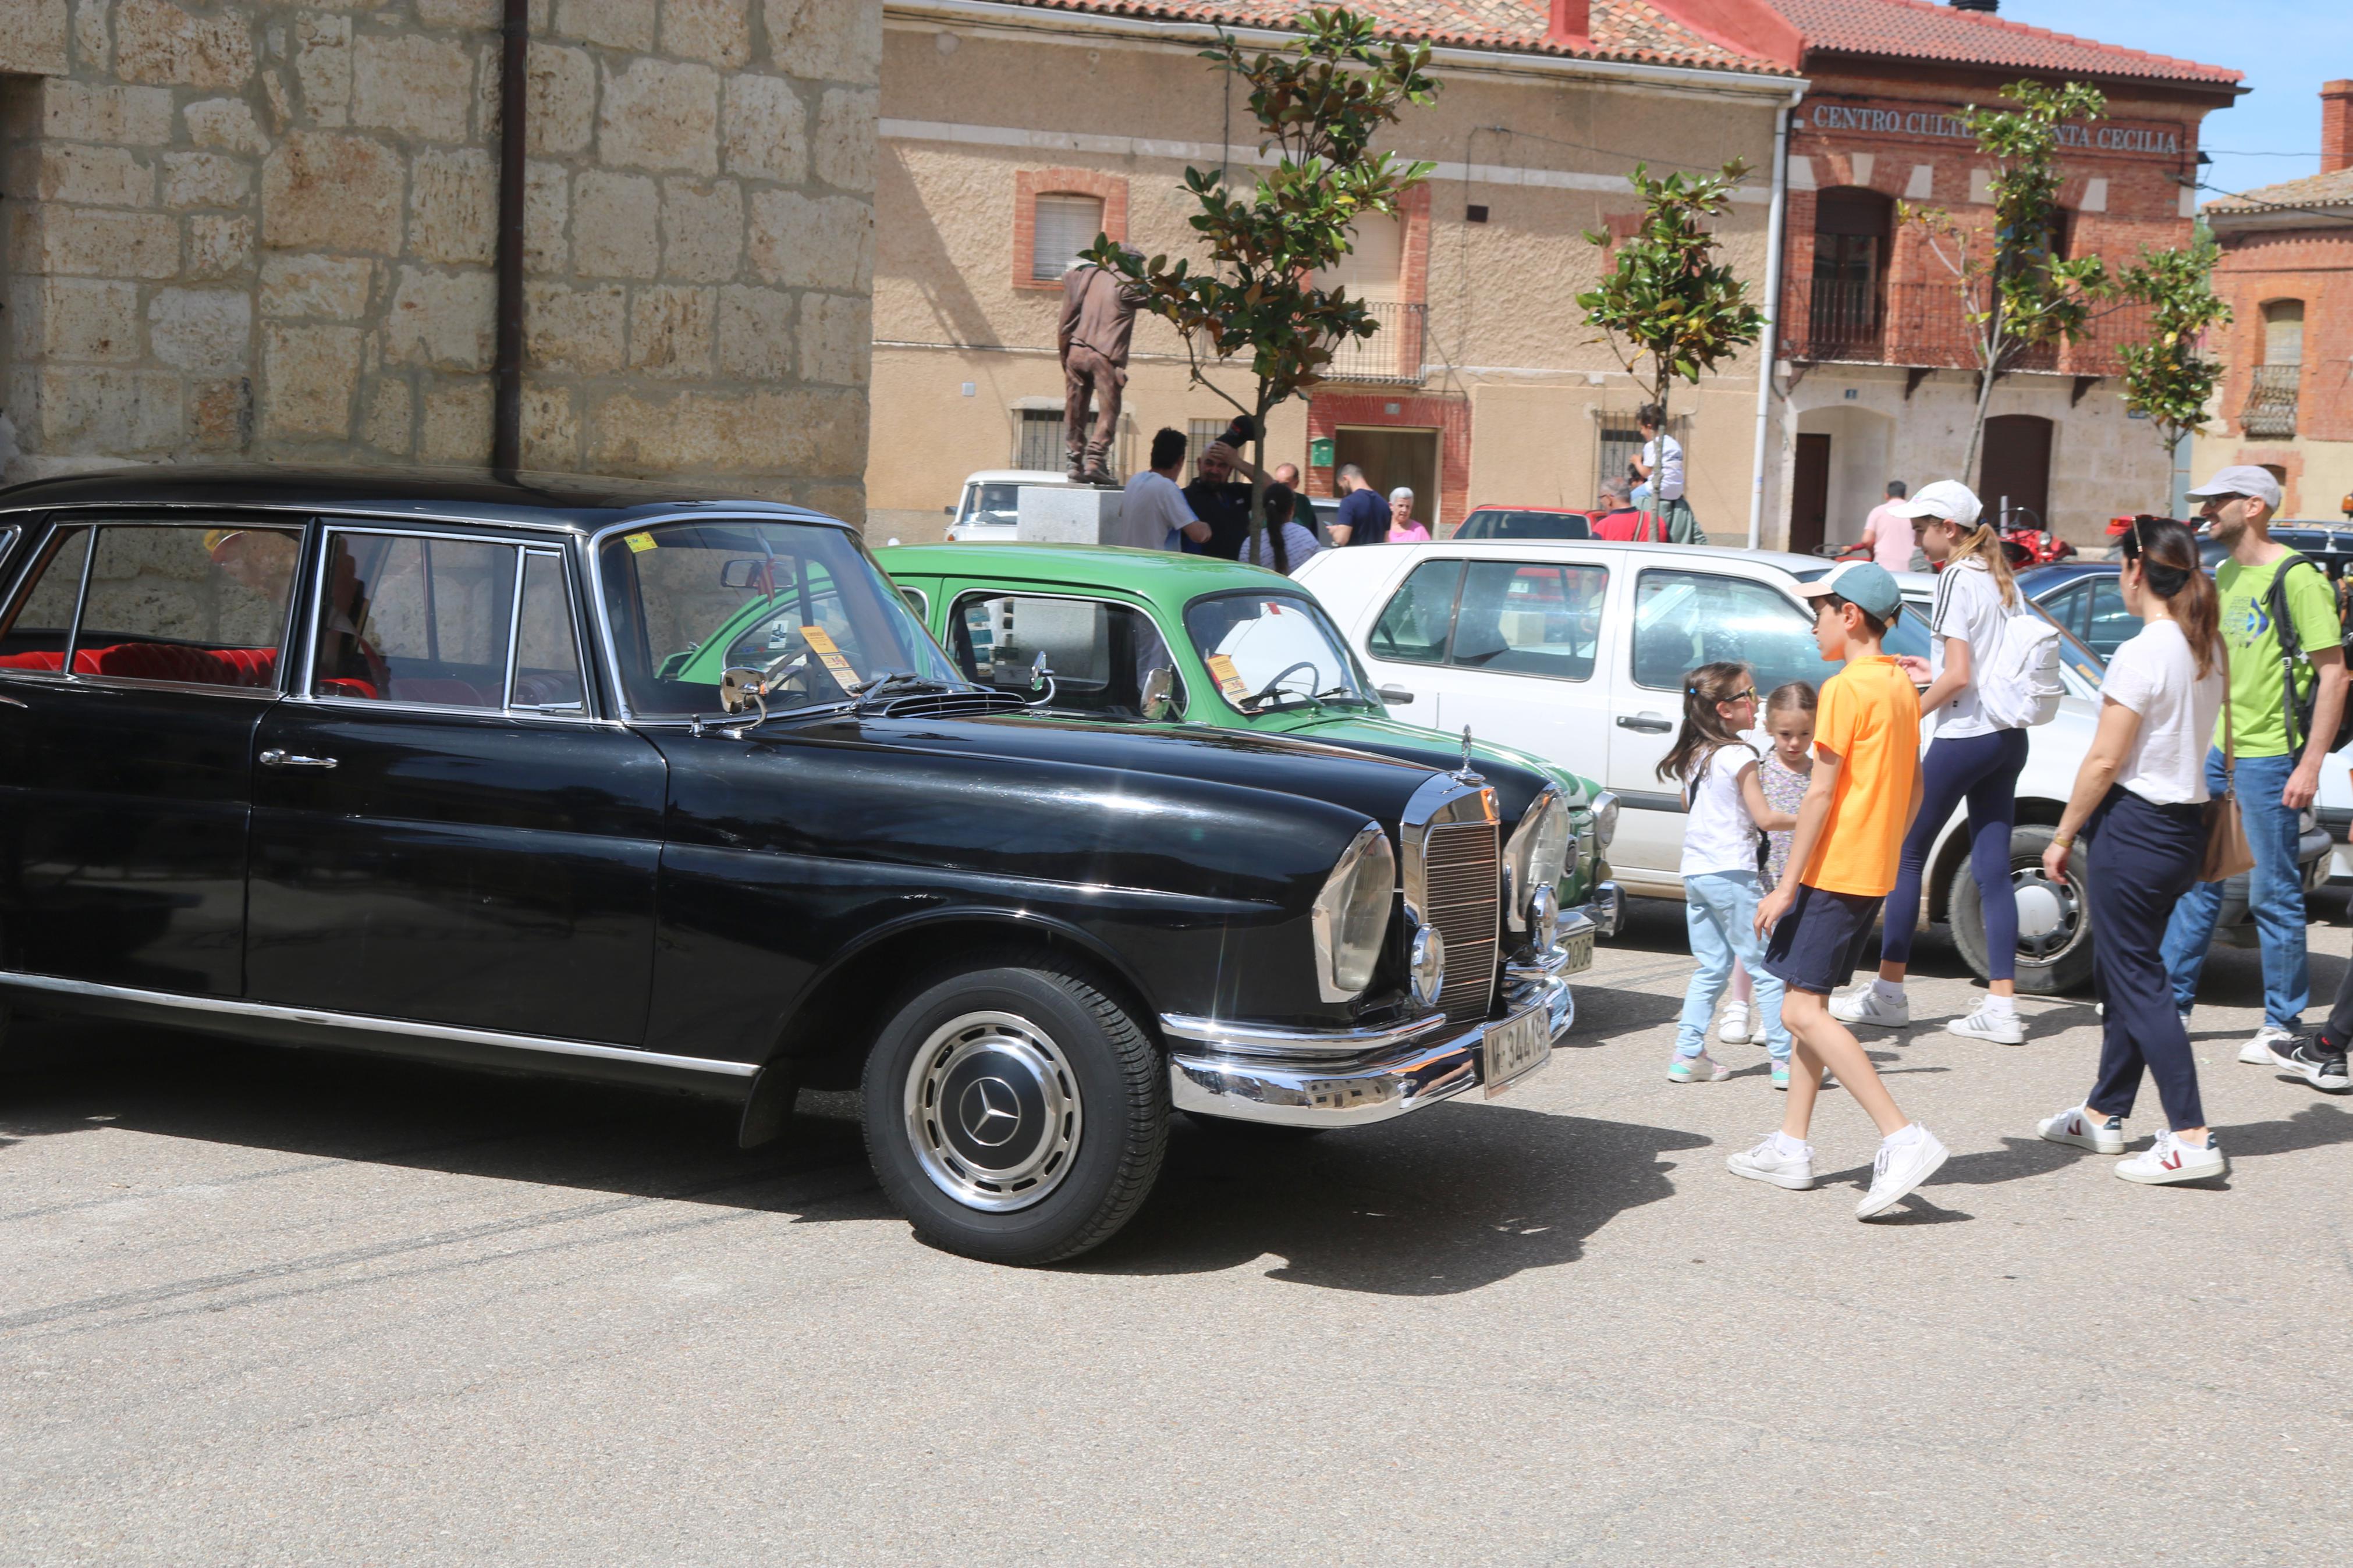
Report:
<svg viewBox="0 0 2353 1568"><path fill-rule="evenodd" d="M489 458L499 0L0 0L9 480ZM864 512L880 0L534 0L522 458Z"/></svg>

